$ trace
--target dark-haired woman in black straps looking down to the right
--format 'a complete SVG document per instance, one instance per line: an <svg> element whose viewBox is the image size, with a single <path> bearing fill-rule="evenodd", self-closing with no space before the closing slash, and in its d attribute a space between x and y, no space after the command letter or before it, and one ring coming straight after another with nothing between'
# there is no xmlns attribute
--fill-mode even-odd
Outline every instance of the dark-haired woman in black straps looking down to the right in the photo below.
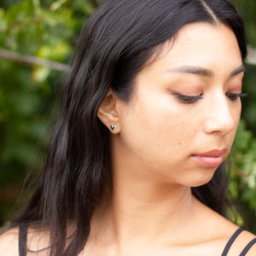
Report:
<svg viewBox="0 0 256 256"><path fill-rule="evenodd" d="M227 1L102 3L81 32L38 188L1 252L256 255L255 236L222 216L246 52Z"/></svg>

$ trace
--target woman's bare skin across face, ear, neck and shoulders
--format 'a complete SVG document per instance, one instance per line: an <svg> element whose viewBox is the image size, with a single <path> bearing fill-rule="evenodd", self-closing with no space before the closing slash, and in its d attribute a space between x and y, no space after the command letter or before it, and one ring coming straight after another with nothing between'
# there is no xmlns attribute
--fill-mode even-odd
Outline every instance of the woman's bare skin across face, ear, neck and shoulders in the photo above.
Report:
<svg viewBox="0 0 256 256"><path fill-rule="evenodd" d="M217 168L193 155L225 148L224 160L236 134L241 101L230 93L241 93L243 77L236 37L223 24L189 24L148 63L130 102L109 90L98 111L107 127L117 126L111 131L113 194L94 213L81 255L220 255L238 227L190 188L210 181ZM201 98L188 103L181 94ZM37 247L32 236L46 236L37 234L29 234L29 247ZM242 232L229 255L253 238ZM14 242L17 230L10 230L0 249ZM256 255L256 247L247 255Z"/></svg>

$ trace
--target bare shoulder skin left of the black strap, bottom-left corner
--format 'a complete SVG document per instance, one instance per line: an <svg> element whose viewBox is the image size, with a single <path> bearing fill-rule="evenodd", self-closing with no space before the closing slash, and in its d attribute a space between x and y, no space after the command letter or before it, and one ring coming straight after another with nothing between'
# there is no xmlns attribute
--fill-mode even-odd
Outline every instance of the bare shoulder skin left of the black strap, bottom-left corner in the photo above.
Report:
<svg viewBox="0 0 256 256"><path fill-rule="evenodd" d="M0 235L0 252L4 252L5 256L19 256L19 228Z"/></svg>

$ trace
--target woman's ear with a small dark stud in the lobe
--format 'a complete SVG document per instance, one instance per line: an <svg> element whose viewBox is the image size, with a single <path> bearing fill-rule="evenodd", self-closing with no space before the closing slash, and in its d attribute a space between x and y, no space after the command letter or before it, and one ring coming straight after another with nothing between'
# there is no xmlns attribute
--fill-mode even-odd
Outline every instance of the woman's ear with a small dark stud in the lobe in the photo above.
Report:
<svg viewBox="0 0 256 256"><path fill-rule="evenodd" d="M118 101L119 98L115 96L113 90L109 89L97 113L97 117L108 127L109 131L114 134L120 131L119 114L117 111Z"/></svg>

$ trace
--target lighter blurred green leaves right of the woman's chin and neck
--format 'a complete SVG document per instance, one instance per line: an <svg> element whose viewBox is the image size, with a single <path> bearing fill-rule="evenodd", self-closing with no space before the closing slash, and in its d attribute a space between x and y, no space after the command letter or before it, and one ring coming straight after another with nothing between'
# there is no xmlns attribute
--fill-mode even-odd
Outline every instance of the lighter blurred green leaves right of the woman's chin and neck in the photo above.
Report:
<svg viewBox="0 0 256 256"><path fill-rule="evenodd" d="M246 130L244 120L238 126L229 161L231 198L240 204L245 224L256 233L256 138Z"/></svg>

